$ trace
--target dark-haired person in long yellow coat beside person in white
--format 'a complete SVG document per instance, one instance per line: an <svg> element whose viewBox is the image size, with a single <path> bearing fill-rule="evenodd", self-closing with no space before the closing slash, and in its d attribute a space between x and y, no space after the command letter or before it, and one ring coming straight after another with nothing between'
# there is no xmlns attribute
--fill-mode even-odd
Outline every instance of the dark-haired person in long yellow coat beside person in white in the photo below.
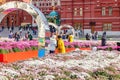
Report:
<svg viewBox="0 0 120 80"><path fill-rule="evenodd" d="M57 40L57 49L59 53L65 53L65 46L64 46L64 41L62 40L61 36L58 36Z"/></svg>

